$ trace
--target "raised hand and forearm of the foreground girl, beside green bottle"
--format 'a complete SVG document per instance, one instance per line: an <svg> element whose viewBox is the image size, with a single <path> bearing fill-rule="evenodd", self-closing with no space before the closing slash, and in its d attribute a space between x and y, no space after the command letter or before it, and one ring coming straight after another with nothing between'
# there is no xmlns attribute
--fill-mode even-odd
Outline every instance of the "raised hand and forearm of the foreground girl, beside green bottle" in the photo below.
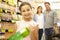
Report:
<svg viewBox="0 0 60 40"><path fill-rule="evenodd" d="M31 40L38 40L38 25L32 26L30 25L30 34L31 34Z"/></svg>

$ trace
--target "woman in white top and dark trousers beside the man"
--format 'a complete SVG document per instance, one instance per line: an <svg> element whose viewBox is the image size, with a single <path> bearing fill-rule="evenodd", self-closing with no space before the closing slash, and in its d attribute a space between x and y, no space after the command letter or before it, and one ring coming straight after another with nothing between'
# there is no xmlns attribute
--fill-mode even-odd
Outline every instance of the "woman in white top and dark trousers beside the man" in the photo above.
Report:
<svg viewBox="0 0 60 40"><path fill-rule="evenodd" d="M43 26L44 26L44 15L42 13L42 7L38 6L37 14L34 17L34 20L39 24L39 40L42 38Z"/></svg>

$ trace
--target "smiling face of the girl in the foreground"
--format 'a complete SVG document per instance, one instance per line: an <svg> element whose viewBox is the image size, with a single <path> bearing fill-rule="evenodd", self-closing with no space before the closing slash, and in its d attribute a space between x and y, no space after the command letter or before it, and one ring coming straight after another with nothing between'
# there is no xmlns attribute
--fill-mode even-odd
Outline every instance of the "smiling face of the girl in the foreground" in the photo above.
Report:
<svg viewBox="0 0 60 40"><path fill-rule="evenodd" d="M32 16L32 9L29 5L24 5L21 7L22 16L26 19L31 18Z"/></svg>

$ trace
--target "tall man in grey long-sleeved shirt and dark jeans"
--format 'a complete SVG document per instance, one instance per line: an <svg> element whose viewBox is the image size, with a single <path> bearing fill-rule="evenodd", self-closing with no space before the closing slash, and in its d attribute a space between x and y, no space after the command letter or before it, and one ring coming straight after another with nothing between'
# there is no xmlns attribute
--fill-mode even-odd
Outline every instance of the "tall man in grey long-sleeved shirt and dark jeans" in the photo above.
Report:
<svg viewBox="0 0 60 40"><path fill-rule="evenodd" d="M51 10L49 2L45 2L44 5L46 7L44 11L46 40L52 40L52 32L57 22L57 15L55 11Z"/></svg>

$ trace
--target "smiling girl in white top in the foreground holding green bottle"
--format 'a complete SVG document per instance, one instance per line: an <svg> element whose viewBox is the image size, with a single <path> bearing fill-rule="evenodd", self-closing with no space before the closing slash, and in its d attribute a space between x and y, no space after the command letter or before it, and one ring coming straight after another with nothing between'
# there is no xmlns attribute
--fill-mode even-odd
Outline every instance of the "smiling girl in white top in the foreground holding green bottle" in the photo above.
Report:
<svg viewBox="0 0 60 40"><path fill-rule="evenodd" d="M33 21L31 5L27 2L23 2L19 9L22 14L22 20L17 22L17 31L27 27L30 30L30 34L25 37L24 40L38 40L38 26Z"/></svg>

